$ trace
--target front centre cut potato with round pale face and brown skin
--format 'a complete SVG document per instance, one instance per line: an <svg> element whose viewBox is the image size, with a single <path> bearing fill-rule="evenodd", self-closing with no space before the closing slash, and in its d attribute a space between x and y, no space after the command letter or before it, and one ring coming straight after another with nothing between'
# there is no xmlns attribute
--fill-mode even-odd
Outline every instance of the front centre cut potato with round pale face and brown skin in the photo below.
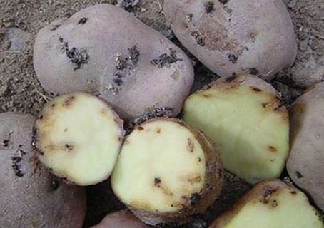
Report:
<svg viewBox="0 0 324 228"><path fill-rule="evenodd" d="M222 184L213 143L168 118L149 120L128 135L111 176L116 196L151 225L188 222L213 203Z"/></svg>

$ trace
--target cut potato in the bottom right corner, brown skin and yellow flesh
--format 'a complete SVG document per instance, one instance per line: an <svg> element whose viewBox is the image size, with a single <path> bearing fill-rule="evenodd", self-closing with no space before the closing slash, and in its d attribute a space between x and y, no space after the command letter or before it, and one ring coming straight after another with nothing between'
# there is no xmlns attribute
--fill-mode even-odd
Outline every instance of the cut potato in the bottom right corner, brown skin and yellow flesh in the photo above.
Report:
<svg viewBox="0 0 324 228"><path fill-rule="evenodd" d="M303 192L281 180L253 187L210 228L323 228Z"/></svg>

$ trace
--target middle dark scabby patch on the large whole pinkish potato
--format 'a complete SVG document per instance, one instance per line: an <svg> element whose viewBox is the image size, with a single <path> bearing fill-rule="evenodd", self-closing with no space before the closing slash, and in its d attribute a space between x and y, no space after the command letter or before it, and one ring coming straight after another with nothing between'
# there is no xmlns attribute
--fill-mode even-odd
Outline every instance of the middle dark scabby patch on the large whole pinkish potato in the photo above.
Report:
<svg viewBox="0 0 324 228"><path fill-rule="evenodd" d="M140 53L137 49L136 45L133 45L131 48L128 48L128 55L123 56L121 53L116 54L116 71L113 73L113 81L107 87L109 91L111 91L114 95L121 90L121 86L123 85L123 81L126 76L136 68L138 64L138 58Z"/></svg>

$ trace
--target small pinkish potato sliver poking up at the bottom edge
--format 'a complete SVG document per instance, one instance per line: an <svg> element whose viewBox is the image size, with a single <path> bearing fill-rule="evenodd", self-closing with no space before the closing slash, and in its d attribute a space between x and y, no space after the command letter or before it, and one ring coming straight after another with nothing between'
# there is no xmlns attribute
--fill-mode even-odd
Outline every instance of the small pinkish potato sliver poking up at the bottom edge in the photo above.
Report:
<svg viewBox="0 0 324 228"><path fill-rule="evenodd" d="M148 228L143 222L126 210L108 214L102 221L92 228Z"/></svg>

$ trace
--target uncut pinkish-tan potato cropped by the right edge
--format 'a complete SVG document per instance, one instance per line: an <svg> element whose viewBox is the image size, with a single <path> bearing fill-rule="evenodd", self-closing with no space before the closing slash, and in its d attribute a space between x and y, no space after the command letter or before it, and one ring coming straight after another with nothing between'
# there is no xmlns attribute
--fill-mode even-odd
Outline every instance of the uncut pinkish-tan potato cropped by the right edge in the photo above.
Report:
<svg viewBox="0 0 324 228"><path fill-rule="evenodd" d="M324 211L324 83L298 98L290 109L291 150L287 170L296 185Z"/></svg>

